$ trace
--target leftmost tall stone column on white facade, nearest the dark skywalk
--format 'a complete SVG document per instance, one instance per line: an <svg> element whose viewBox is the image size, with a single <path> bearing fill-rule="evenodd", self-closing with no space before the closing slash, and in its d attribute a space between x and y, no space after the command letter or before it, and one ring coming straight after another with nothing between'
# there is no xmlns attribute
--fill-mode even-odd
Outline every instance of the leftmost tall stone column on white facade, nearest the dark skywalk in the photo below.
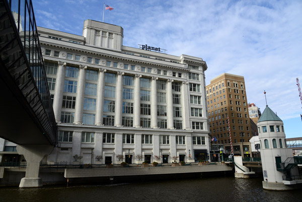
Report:
<svg viewBox="0 0 302 202"><path fill-rule="evenodd" d="M57 71L54 98L53 98L53 112L54 112L55 121L57 123L60 122L61 120L66 62L58 61L58 65L59 66Z"/></svg>

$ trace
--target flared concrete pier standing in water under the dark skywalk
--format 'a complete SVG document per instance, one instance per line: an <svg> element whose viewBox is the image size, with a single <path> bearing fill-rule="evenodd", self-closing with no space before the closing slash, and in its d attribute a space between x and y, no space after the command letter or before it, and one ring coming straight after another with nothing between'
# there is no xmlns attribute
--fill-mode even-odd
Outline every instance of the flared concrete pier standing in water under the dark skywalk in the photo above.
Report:
<svg viewBox="0 0 302 202"><path fill-rule="evenodd" d="M21 179L19 187L41 187L42 178L39 178L40 161L46 154L50 154L51 145L18 145L18 154L26 159L25 177Z"/></svg>

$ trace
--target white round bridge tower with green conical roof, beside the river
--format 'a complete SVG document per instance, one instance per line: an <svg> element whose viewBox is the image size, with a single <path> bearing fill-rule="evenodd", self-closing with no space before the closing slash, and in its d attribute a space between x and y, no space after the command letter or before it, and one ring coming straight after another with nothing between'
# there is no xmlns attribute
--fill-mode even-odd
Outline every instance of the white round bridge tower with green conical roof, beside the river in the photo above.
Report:
<svg viewBox="0 0 302 202"><path fill-rule="evenodd" d="M257 123L261 146L263 188L271 190L292 189L287 176L298 175L292 150L286 148L283 121L266 105Z"/></svg>

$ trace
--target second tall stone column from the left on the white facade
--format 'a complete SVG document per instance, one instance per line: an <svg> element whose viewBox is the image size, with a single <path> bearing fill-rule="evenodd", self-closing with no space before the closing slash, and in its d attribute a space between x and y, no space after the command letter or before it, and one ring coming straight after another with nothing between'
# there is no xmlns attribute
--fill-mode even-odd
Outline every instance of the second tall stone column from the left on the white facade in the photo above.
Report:
<svg viewBox="0 0 302 202"><path fill-rule="evenodd" d="M87 66L80 64L77 98L75 98L74 124L83 124L83 106Z"/></svg>

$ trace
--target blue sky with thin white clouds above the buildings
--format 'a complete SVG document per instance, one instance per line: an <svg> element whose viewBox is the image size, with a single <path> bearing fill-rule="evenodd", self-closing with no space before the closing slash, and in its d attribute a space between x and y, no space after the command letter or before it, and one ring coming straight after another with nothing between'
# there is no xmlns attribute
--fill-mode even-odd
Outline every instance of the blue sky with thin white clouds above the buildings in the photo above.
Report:
<svg viewBox="0 0 302 202"><path fill-rule="evenodd" d="M302 137L302 1L106 1L104 22L124 29L125 46L149 44L207 62L206 85L222 73L245 77L247 99L283 120L287 138ZM102 21L104 2L33 0L38 26L82 35Z"/></svg>

